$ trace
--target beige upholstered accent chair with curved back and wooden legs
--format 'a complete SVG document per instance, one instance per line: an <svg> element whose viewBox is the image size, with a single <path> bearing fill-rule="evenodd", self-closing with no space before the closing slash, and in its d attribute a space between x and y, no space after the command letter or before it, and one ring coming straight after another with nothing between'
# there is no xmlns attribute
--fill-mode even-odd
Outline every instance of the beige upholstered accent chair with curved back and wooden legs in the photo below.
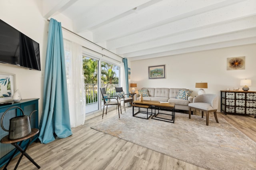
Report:
<svg viewBox="0 0 256 170"><path fill-rule="evenodd" d="M218 96L215 94L202 94L194 97L193 103L188 103L189 119L191 118L191 109L202 111L202 118L206 112L206 125L209 125L209 113L213 112L217 123Z"/></svg>

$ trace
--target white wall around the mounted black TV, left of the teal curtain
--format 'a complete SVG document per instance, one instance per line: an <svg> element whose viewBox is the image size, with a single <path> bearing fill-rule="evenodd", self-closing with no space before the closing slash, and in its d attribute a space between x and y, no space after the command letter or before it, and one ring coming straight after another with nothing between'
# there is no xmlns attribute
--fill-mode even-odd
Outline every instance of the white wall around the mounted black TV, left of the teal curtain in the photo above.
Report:
<svg viewBox="0 0 256 170"><path fill-rule="evenodd" d="M39 115L42 111L42 84L46 55L48 21L42 18L41 1L0 0L0 19L40 44L41 70L29 70L0 63L0 73L16 75L16 89L22 99L40 98Z"/></svg>

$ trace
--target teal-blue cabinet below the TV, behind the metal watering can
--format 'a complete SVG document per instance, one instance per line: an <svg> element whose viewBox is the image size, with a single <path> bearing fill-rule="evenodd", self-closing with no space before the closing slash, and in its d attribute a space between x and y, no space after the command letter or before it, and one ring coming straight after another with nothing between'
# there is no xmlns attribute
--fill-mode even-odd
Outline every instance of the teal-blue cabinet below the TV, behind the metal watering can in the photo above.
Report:
<svg viewBox="0 0 256 170"><path fill-rule="evenodd" d="M4 112L9 109L10 107L17 106L20 107L25 115L30 115L32 111L37 110L35 113L31 115L31 128L38 128L38 99L23 99L18 103L13 103L10 105L2 105L0 106L0 117L4 114ZM10 119L16 116L22 115L20 109L11 109L5 115L3 119L3 125L6 129L9 129ZM8 135L9 132L4 131L0 128L0 139L4 136ZM32 140L35 141L38 138L38 135ZM27 144L28 140L22 142L22 146ZM0 167L4 166L14 152L14 146L12 144L2 144L0 143ZM17 154L19 154L18 152ZM16 154L16 155L17 155Z"/></svg>

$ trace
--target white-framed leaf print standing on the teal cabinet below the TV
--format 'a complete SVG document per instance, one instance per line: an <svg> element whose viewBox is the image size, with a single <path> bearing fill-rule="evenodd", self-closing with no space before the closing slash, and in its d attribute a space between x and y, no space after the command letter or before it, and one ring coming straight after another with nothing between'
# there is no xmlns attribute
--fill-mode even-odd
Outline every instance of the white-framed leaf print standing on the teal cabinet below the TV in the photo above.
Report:
<svg viewBox="0 0 256 170"><path fill-rule="evenodd" d="M15 75L0 73L0 103L11 101L15 92Z"/></svg>

